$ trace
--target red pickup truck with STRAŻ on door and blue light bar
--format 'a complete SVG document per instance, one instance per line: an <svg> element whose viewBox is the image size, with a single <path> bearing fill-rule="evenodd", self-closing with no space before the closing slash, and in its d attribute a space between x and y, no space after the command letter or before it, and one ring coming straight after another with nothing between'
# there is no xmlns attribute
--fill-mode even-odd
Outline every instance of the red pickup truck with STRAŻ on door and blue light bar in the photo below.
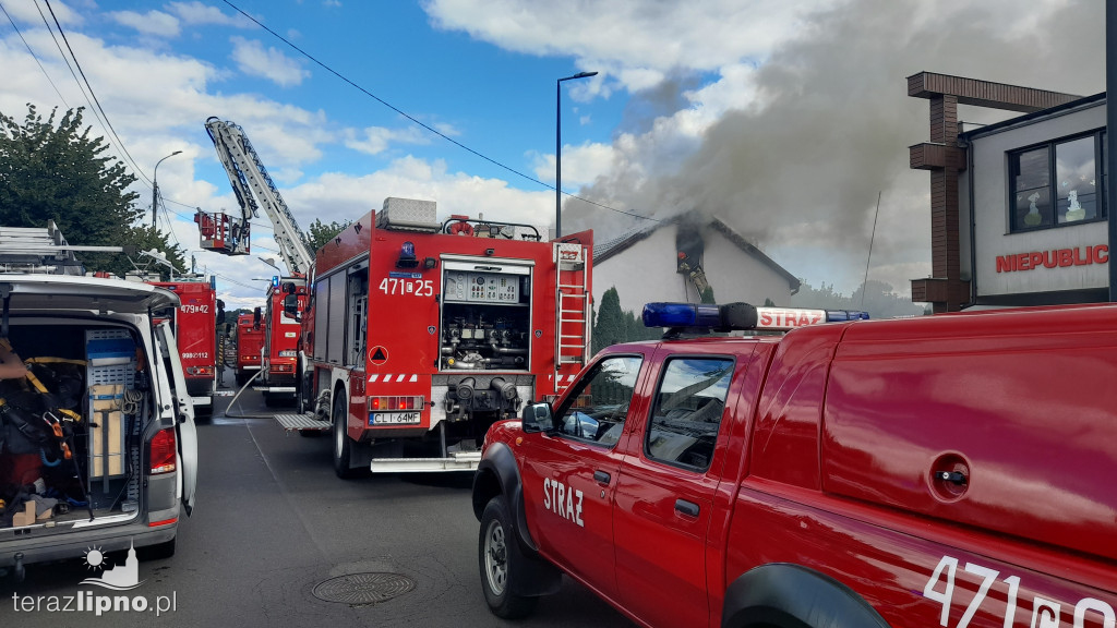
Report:
<svg viewBox="0 0 1117 628"><path fill-rule="evenodd" d="M485 439L497 616L566 573L641 626L1117 625L1117 306L643 317Z"/></svg>

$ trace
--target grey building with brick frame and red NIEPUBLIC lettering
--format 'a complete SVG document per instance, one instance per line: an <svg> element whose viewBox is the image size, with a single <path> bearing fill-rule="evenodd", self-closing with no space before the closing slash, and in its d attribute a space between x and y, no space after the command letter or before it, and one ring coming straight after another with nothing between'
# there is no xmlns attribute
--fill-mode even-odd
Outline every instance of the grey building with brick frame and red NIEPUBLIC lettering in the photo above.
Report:
<svg viewBox="0 0 1117 628"><path fill-rule="evenodd" d="M911 299L934 311L1108 298L1105 95L919 73L930 141L909 148L930 172L932 276ZM957 106L1023 115L960 133Z"/></svg>

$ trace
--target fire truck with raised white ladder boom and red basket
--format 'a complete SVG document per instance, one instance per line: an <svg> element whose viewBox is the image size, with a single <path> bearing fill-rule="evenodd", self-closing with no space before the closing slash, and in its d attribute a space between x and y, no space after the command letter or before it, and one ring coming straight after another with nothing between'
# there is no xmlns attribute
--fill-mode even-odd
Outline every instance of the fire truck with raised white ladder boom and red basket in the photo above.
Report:
<svg viewBox="0 0 1117 628"><path fill-rule="evenodd" d="M270 406L279 399L295 398L298 318L307 301L306 276L314 265L314 254L245 130L211 116L206 121L206 132L229 175L240 216L199 211L194 221L201 232L201 247L223 255L248 255L249 221L262 209L271 221L279 256L287 266L288 275L274 277L267 289L259 381L254 387L264 392L264 400ZM281 305L287 296L295 296L298 303L293 313Z"/></svg>

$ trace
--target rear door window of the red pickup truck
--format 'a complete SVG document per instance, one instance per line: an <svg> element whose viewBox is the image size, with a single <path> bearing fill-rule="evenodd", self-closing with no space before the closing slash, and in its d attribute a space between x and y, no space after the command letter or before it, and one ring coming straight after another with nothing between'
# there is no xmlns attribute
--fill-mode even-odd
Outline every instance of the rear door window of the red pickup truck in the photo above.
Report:
<svg viewBox="0 0 1117 628"><path fill-rule="evenodd" d="M656 393L645 454L669 465L709 468L733 360L678 358L667 362Z"/></svg>

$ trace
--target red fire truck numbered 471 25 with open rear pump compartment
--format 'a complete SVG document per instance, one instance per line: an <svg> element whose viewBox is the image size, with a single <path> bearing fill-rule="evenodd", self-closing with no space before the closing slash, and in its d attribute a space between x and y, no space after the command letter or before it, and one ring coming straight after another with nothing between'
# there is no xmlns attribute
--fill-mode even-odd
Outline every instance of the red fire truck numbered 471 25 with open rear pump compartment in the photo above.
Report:
<svg viewBox="0 0 1117 628"><path fill-rule="evenodd" d="M299 407L324 420L277 419L332 429L341 477L475 469L493 422L589 359L591 248L386 199L317 251Z"/></svg>

